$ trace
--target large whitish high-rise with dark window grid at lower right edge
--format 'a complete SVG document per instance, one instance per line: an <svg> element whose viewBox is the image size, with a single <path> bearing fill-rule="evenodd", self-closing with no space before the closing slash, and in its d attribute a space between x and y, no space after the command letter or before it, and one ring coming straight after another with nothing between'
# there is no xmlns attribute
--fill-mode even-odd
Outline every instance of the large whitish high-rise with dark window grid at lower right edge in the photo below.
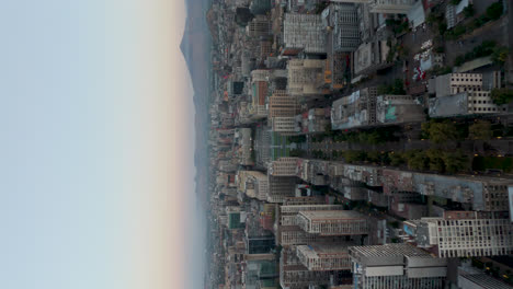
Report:
<svg viewBox="0 0 513 289"><path fill-rule="evenodd" d="M513 253L513 224L501 213L445 211L443 218L407 221L421 247L440 257L497 256Z"/></svg>

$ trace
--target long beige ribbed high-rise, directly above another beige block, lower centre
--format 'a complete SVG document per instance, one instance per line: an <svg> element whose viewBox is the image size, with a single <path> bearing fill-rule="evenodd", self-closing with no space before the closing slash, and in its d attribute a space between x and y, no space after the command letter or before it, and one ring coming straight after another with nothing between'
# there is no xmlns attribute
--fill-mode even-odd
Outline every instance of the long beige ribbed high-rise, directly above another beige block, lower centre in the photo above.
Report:
<svg viewBox="0 0 513 289"><path fill-rule="evenodd" d="M356 235L368 233L368 222L364 215L353 210L300 211L297 217L299 228L310 234Z"/></svg>

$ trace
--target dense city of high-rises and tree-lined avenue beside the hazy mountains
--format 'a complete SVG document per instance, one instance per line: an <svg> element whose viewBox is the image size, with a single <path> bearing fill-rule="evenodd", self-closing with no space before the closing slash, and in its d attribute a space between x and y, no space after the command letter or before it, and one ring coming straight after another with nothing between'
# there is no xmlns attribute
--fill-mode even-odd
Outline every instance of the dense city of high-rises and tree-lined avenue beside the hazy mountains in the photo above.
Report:
<svg viewBox="0 0 513 289"><path fill-rule="evenodd" d="M210 1L205 288L513 288L512 4Z"/></svg>

